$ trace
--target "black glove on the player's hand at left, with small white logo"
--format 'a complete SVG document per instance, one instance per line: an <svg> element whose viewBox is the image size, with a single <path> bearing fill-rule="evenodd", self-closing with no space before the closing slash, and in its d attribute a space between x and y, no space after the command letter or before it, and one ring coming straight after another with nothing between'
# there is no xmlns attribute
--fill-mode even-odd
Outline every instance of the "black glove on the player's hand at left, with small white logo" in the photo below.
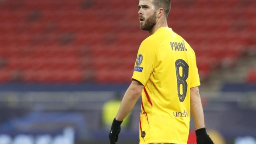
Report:
<svg viewBox="0 0 256 144"><path fill-rule="evenodd" d="M116 120L116 118L114 118L112 126L111 126L111 130L108 135L110 144L116 144L116 142L118 140L118 134L121 131L122 122L123 121L118 121L118 120Z"/></svg>

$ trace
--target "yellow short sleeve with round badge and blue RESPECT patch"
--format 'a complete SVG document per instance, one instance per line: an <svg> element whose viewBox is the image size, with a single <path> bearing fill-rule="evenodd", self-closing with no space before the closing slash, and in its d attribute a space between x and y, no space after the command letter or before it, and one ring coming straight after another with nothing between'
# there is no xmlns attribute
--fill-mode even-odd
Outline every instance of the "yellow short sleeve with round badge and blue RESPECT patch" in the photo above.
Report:
<svg viewBox="0 0 256 144"><path fill-rule="evenodd" d="M138 50L132 79L138 80L144 86L156 66L156 49L152 42L143 41Z"/></svg>

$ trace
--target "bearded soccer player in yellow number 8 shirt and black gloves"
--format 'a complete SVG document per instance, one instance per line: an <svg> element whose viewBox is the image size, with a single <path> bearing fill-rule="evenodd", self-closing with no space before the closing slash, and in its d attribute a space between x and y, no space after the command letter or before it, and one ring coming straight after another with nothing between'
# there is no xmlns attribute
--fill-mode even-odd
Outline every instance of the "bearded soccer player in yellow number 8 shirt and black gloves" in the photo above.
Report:
<svg viewBox="0 0 256 144"><path fill-rule="evenodd" d="M186 144L190 108L197 144L213 144L204 126L195 53L168 28L170 0L140 0L138 8L140 28L150 36L138 50L132 83L109 133L110 144L116 144L122 120L140 95L140 144Z"/></svg>

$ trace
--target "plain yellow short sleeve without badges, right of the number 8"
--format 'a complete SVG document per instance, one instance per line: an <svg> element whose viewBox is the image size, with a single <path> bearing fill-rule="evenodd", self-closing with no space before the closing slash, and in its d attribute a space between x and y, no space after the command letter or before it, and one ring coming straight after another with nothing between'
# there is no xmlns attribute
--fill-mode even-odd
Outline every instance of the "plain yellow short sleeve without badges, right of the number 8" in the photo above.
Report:
<svg viewBox="0 0 256 144"><path fill-rule="evenodd" d="M191 75L190 75L190 88L194 88L196 86L200 86L200 78L198 74L198 68L196 66L196 55L192 50L192 65L191 65Z"/></svg>

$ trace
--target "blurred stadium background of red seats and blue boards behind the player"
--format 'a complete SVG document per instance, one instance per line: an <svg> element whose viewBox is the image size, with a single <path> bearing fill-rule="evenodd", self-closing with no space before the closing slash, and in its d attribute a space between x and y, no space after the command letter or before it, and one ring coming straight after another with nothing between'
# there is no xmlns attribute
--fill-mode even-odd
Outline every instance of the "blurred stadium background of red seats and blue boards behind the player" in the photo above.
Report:
<svg viewBox="0 0 256 144"><path fill-rule="evenodd" d="M172 0L168 24L196 52L216 144L256 144L255 8ZM108 144L146 37L138 0L0 0L0 144ZM138 102L119 144L138 144L139 114Z"/></svg>

